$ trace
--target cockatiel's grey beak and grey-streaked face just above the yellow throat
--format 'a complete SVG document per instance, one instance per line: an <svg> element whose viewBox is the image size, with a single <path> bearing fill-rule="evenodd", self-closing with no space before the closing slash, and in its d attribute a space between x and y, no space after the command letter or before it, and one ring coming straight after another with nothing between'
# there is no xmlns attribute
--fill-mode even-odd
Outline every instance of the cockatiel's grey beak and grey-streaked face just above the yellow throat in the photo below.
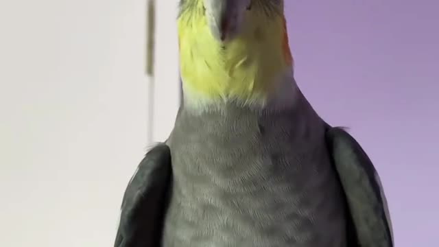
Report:
<svg viewBox="0 0 439 247"><path fill-rule="evenodd" d="M246 21L256 16L270 21L283 12L283 0L181 0L180 5L189 12L201 7L212 36L222 43L239 36Z"/></svg>

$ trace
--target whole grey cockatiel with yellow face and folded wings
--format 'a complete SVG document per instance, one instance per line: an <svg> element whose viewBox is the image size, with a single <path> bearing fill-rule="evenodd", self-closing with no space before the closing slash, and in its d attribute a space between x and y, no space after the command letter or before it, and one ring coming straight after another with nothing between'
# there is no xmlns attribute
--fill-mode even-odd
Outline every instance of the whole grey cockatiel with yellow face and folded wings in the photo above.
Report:
<svg viewBox="0 0 439 247"><path fill-rule="evenodd" d="M282 0L182 0L184 100L115 247L391 247L379 176L294 80Z"/></svg>

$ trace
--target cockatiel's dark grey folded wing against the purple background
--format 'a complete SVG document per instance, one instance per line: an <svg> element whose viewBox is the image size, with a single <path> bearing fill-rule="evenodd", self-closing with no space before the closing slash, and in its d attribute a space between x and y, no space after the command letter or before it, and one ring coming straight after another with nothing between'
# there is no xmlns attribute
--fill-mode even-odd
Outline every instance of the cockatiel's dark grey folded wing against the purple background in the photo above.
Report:
<svg viewBox="0 0 439 247"><path fill-rule="evenodd" d="M328 126L329 152L345 192L355 235L352 246L393 247L392 223L381 180L359 143L342 128ZM350 245L350 246L351 246Z"/></svg>

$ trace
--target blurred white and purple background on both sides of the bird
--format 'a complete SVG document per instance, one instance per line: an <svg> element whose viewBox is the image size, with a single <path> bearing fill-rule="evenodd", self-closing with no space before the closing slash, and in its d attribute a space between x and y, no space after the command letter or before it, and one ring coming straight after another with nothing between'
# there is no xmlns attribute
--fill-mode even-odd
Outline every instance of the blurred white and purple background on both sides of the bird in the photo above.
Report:
<svg viewBox="0 0 439 247"><path fill-rule="evenodd" d="M285 5L296 80L375 163L396 246L434 246L439 2ZM147 131L166 139L180 102L177 0L156 1L154 85L146 6L0 1L0 246L112 246Z"/></svg>

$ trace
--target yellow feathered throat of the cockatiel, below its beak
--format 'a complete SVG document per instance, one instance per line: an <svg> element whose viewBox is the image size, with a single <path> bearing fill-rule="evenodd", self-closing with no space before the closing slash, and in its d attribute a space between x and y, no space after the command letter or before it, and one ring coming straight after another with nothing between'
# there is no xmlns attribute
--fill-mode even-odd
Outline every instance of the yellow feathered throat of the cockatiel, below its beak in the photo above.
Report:
<svg viewBox="0 0 439 247"><path fill-rule="evenodd" d="M213 38L203 16L179 17L185 104L263 105L292 76L285 18L253 18L237 38L222 44Z"/></svg>

